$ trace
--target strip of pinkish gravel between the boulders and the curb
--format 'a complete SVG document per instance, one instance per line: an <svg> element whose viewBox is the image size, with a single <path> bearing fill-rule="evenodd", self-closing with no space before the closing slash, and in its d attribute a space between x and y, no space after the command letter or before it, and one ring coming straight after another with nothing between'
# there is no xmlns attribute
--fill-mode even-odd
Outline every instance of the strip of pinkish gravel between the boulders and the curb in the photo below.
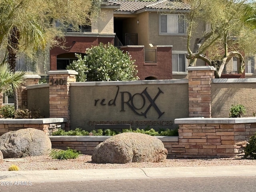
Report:
<svg viewBox="0 0 256 192"><path fill-rule="evenodd" d="M71 160L55 160L50 156L30 156L26 158L4 159L0 171L8 171L12 164L20 170L65 170L65 169L108 169L108 168L151 168L151 167L186 167L186 166L230 166L230 165L256 165L256 160L236 158L214 159L185 159L172 158L160 163L127 163L127 164L96 164L91 162L90 155L80 155Z"/></svg>

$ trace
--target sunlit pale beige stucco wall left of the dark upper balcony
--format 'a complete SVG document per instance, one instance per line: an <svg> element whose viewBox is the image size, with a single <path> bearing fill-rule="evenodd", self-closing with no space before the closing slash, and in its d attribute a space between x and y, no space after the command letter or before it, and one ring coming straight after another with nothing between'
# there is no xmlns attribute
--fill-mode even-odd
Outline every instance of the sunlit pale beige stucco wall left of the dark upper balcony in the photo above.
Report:
<svg viewBox="0 0 256 192"><path fill-rule="evenodd" d="M92 32L105 34L114 33L114 16L112 9L102 8L100 10L97 22L92 23Z"/></svg>

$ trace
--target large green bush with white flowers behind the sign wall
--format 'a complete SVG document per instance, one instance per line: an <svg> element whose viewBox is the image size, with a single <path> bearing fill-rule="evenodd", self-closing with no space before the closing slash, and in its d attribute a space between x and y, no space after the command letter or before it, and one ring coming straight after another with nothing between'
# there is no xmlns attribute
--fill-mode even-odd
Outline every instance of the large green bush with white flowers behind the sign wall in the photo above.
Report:
<svg viewBox="0 0 256 192"><path fill-rule="evenodd" d="M86 49L84 58L80 54L76 57L78 60L67 69L78 72L78 82L138 80L135 60L131 60L128 52L124 53L110 43Z"/></svg>

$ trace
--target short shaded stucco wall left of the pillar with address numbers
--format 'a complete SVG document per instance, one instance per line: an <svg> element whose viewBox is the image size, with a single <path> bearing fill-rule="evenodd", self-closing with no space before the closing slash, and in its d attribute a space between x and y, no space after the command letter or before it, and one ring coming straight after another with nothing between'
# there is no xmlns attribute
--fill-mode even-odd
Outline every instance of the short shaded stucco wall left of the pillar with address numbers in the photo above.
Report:
<svg viewBox="0 0 256 192"><path fill-rule="evenodd" d="M40 110L40 115L48 118L50 116L49 108L49 87L28 89L29 110Z"/></svg>

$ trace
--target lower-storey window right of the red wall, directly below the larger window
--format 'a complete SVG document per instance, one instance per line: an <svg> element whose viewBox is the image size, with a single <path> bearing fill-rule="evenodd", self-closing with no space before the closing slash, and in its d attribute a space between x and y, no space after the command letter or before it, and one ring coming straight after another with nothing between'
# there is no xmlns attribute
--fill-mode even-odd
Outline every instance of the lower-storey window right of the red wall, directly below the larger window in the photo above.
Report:
<svg viewBox="0 0 256 192"><path fill-rule="evenodd" d="M172 72L186 72L185 54L172 54Z"/></svg>

